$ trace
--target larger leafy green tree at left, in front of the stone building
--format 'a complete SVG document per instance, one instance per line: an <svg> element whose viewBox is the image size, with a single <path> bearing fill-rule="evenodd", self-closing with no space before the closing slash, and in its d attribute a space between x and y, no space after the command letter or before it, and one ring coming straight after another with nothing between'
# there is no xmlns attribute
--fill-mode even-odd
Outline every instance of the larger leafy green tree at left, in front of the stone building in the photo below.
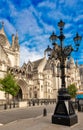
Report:
<svg viewBox="0 0 83 130"><path fill-rule="evenodd" d="M16 96L19 92L19 86L16 83L14 76L8 73L3 79L0 79L0 90L5 91L12 96Z"/></svg>

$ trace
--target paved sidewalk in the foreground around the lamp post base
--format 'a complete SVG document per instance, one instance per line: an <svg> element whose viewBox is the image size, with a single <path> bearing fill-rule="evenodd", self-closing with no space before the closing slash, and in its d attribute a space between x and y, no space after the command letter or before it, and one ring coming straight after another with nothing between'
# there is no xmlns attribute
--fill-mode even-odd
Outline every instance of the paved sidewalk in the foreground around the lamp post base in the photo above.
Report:
<svg viewBox="0 0 83 130"><path fill-rule="evenodd" d="M0 126L0 130L83 130L83 113L78 112L78 123L69 127L51 123L51 115L20 119Z"/></svg>

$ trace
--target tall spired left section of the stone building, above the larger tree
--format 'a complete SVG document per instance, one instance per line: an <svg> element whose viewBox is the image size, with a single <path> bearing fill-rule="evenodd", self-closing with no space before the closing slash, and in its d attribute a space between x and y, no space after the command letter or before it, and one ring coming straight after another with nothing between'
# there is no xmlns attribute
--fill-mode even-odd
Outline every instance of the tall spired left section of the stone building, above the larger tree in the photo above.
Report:
<svg viewBox="0 0 83 130"><path fill-rule="evenodd" d="M0 29L0 78L3 78L7 72L8 66L19 66L20 59L18 35L12 35L12 44L10 44L5 31L4 24ZM4 93L0 92L0 99L3 99Z"/></svg>

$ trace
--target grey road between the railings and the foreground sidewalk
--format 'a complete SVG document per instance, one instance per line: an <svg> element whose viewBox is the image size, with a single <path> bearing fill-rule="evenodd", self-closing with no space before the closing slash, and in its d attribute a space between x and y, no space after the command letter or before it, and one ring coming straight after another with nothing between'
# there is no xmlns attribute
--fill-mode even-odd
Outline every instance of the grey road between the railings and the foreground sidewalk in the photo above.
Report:
<svg viewBox="0 0 83 130"><path fill-rule="evenodd" d="M0 111L0 124L7 124L12 121L34 118L43 115L43 109L46 107L47 113L53 113L55 104L47 106L32 106L27 108L15 108Z"/></svg>

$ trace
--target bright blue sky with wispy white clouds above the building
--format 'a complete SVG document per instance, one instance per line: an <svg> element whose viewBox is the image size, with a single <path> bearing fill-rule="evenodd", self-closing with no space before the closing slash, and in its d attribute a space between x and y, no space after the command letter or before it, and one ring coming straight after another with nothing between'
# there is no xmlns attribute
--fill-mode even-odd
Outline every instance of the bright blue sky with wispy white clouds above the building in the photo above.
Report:
<svg viewBox="0 0 83 130"><path fill-rule="evenodd" d="M53 31L59 35L57 23L65 22L64 45L73 45L76 32L83 36L83 0L0 0L0 21L11 43L11 35L18 32L20 64L44 56L51 46L49 36ZM83 40L79 51L72 53L83 64Z"/></svg>

